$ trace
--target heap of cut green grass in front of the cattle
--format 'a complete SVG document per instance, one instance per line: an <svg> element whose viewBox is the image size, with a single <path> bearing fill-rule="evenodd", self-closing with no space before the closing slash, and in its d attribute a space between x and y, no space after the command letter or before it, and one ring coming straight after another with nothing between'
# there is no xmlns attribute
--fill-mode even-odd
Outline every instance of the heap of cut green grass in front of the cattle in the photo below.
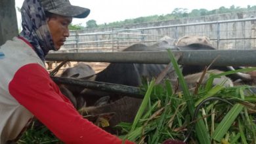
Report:
<svg viewBox="0 0 256 144"><path fill-rule="evenodd" d="M211 79L218 77L213 75L192 94L173 54L169 54L182 91L173 92L170 81L146 84L146 95L134 122L118 125L123 130L120 137L152 144L166 139L203 144L255 143L256 96L249 92L250 86L212 86Z"/></svg>

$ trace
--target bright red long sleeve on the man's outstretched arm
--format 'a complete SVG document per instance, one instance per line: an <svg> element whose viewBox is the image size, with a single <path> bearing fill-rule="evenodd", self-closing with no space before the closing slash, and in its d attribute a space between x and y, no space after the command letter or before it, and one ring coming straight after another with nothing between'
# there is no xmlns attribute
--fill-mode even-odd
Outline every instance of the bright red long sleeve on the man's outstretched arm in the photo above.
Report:
<svg viewBox="0 0 256 144"><path fill-rule="evenodd" d="M115 135L81 117L37 63L24 65L16 71L9 92L64 143L122 143Z"/></svg>

